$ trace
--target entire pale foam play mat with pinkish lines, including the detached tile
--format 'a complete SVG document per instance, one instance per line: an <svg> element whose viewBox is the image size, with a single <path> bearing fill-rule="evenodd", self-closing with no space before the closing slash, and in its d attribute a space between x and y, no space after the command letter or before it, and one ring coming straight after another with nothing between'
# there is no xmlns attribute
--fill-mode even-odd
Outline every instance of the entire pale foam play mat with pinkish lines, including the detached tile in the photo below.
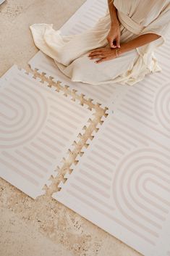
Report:
<svg viewBox="0 0 170 256"><path fill-rule="evenodd" d="M61 27L95 25L107 1L87 0ZM170 256L170 34L155 52L161 72L135 86L74 83L41 51L30 67L109 108L53 198L145 256ZM0 176L30 197L43 194L93 110L12 67L0 80Z"/></svg>

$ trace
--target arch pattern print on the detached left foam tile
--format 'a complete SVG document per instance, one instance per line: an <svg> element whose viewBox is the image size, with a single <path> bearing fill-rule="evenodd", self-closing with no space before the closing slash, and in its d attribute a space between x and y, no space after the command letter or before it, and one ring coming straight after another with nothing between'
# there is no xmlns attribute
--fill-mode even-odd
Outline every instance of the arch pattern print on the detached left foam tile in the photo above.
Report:
<svg viewBox="0 0 170 256"><path fill-rule="evenodd" d="M46 122L46 99L37 88L29 86L26 78L22 81L22 87L16 78L1 92L1 104L6 108L5 113L15 114L7 116L1 113L4 117L0 128L1 149L11 149L35 138Z"/></svg>

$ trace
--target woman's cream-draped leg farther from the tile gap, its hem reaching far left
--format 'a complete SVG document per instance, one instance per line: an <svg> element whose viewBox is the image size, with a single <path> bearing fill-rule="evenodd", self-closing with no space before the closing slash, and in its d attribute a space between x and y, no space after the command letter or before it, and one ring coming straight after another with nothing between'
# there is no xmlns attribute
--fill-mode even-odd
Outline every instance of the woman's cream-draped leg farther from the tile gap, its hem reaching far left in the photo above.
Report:
<svg viewBox="0 0 170 256"><path fill-rule="evenodd" d="M60 30L54 30L52 25L48 24L30 26L35 45L45 54L66 66L82 54L106 46L109 28L109 12L106 12L93 28L89 28L78 35L62 36Z"/></svg>

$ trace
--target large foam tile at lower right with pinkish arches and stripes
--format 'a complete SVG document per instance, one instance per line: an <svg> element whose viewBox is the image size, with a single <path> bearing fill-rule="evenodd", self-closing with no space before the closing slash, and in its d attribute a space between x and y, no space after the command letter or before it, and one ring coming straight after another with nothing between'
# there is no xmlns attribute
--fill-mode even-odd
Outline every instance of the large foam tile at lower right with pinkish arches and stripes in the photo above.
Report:
<svg viewBox="0 0 170 256"><path fill-rule="evenodd" d="M170 255L170 57L165 62L165 54L163 73L120 88L109 102L109 116L53 195L145 256Z"/></svg>

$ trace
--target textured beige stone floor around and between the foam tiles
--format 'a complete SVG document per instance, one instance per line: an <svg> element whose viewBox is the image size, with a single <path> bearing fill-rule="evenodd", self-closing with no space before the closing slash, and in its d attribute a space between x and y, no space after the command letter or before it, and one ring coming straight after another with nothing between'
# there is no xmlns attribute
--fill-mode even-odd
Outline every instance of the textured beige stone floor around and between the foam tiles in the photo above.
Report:
<svg viewBox="0 0 170 256"><path fill-rule="evenodd" d="M0 76L14 63L29 70L27 61L38 51L29 25L53 23L60 28L85 0L9 0L0 7ZM34 75L38 75L36 72ZM42 79L44 80L45 78ZM54 85L55 86L55 85ZM60 88L62 89L62 88ZM71 94L71 92L67 91ZM76 97L73 95L73 97ZM137 256L133 249L85 220L77 213L51 199L57 184L85 141L100 122L104 110L95 107L96 115L75 151L68 154L59 180L52 179L46 195L33 200L0 179L0 255L2 256ZM86 145L88 146L88 145ZM81 154L81 153L80 153Z"/></svg>

